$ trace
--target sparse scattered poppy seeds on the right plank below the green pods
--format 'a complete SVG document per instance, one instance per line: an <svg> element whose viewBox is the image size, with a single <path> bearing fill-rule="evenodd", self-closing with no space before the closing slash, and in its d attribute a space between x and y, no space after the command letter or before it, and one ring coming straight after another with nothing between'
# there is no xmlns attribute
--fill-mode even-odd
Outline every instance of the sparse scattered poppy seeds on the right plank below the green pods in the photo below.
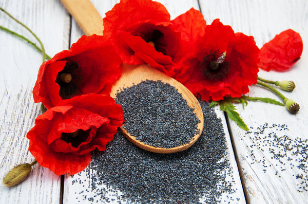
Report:
<svg viewBox="0 0 308 204"><path fill-rule="evenodd" d="M285 124L265 123L257 128L250 128L244 137L251 138L251 165L262 166L264 173L273 173L277 177L284 177L288 172L293 174L297 181L297 191L308 191L308 139L301 137L291 138L286 135L288 127ZM306 137L304 137L306 138ZM265 154L264 154L265 153ZM255 156L256 154L270 155L270 157ZM248 158L248 156L246 156ZM296 169L288 171L288 169ZM274 176L273 175L273 176Z"/></svg>

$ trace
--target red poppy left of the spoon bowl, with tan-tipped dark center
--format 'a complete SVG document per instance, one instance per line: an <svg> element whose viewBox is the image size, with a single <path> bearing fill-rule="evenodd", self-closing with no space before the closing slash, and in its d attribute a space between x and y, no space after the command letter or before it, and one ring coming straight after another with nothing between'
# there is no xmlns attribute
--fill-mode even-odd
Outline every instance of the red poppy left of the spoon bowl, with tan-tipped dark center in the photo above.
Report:
<svg viewBox="0 0 308 204"><path fill-rule="evenodd" d="M121 59L107 39L83 35L69 50L57 53L38 70L34 101L51 108L83 94L109 94L121 76Z"/></svg>

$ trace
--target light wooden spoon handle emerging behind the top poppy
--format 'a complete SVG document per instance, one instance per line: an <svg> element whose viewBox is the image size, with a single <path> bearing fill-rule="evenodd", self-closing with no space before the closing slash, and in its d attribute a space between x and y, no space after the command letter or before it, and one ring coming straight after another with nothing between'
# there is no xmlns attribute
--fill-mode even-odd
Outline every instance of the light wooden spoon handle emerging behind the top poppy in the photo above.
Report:
<svg viewBox="0 0 308 204"><path fill-rule="evenodd" d="M90 0L61 0L86 35L103 35L103 18Z"/></svg>

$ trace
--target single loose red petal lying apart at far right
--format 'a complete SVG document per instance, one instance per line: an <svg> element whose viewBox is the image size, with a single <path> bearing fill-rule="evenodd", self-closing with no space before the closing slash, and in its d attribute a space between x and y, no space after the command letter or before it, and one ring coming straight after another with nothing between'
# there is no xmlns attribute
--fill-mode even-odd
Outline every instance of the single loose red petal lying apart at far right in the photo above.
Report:
<svg viewBox="0 0 308 204"><path fill-rule="evenodd" d="M303 41L299 33L285 30L260 49L259 67L266 71L288 69L300 59L302 51Z"/></svg>

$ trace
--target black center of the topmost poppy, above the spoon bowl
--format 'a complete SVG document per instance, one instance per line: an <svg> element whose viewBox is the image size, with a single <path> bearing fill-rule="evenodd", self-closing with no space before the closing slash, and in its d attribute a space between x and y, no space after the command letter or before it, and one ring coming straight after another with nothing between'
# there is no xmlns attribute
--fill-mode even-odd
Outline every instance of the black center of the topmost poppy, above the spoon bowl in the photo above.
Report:
<svg viewBox="0 0 308 204"><path fill-rule="evenodd" d="M166 55L166 43L164 41L164 33L157 29L151 31L143 32L140 34L141 38L152 45L156 51L162 52Z"/></svg>

